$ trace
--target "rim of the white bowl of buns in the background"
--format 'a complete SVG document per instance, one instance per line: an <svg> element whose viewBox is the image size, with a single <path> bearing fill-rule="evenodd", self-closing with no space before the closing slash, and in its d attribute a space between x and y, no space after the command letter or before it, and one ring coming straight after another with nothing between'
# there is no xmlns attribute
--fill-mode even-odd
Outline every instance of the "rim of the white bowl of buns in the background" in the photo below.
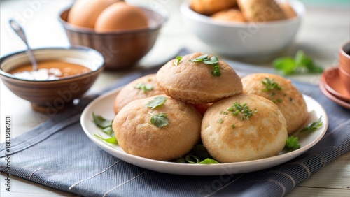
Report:
<svg viewBox="0 0 350 197"><path fill-rule="evenodd" d="M296 6L300 7L299 12L297 12L297 16L292 18L287 18L284 20L275 20L269 22L230 22L230 21L221 21L221 20L213 20L210 16L202 15L200 13L196 13L194 10L190 8L189 1L183 1L180 6L180 10L182 15L186 17L190 17L193 20L197 20L200 22L223 26L223 27L238 27L238 28L249 28L252 24L258 25L261 27L274 27L281 24L286 24L286 22L297 22L300 20L305 14L305 6L301 1L298 0L290 0L288 1L290 5L295 8Z"/></svg>

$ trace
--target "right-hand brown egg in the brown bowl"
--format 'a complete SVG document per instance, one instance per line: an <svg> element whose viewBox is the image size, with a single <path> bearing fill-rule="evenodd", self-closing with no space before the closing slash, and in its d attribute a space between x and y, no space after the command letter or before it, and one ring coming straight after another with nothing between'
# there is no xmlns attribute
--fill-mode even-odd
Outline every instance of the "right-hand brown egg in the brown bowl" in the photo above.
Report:
<svg viewBox="0 0 350 197"><path fill-rule="evenodd" d="M94 28L97 32L108 32L144 27L148 27L148 18L140 8L118 2L99 15Z"/></svg>

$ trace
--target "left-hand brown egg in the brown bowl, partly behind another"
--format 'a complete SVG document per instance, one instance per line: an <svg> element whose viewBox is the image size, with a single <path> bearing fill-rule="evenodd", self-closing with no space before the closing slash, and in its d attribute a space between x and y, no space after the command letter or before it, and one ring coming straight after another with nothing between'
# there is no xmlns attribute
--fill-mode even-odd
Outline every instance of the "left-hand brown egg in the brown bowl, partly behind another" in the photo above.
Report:
<svg viewBox="0 0 350 197"><path fill-rule="evenodd" d="M104 9L120 0L78 0L73 4L67 22L80 27L94 28Z"/></svg>

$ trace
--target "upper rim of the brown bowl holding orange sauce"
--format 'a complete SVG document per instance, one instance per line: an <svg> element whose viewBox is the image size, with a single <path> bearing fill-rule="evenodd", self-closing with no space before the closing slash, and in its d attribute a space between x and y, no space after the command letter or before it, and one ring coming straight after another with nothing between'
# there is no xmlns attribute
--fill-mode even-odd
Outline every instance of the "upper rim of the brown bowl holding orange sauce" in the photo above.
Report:
<svg viewBox="0 0 350 197"><path fill-rule="evenodd" d="M21 53L26 53L26 50L20 50L17 52L12 52L10 54L6 54L5 56L0 58L0 75L1 78L2 77L6 77L6 78L11 78L13 80L20 80L20 81L25 81L25 82L39 82L39 83L45 83L45 82L64 82L66 80L73 80L75 78L82 78L84 76L87 75L92 75L94 73L99 73L100 71L102 71L102 69L104 68L104 57L103 55L98 52L97 50L94 50L92 48L87 48L85 46L80 46L80 45L71 45L69 47L45 47L45 48L33 48L31 49L34 53L35 51L42 51L42 50L78 50L78 51L87 51L87 52L94 52L95 54L97 54L97 56L99 56L101 58L101 63L97 66L97 68L95 70L91 70L87 73L83 73L81 75L72 75L66 78L58 78L55 80L27 80L27 79L23 79L23 78L17 78L15 75L11 75L10 73L7 73L5 71L3 71L2 69L2 63L3 61L5 61L6 59L9 59L10 57L13 57L14 55L17 54L21 54Z"/></svg>

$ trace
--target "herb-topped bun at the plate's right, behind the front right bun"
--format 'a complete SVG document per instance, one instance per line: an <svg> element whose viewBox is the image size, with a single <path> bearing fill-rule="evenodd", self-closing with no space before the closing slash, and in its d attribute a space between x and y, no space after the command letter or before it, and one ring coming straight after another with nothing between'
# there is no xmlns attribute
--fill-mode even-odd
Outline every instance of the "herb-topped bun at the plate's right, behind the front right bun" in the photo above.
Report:
<svg viewBox="0 0 350 197"><path fill-rule="evenodd" d="M246 75L241 79L244 94L256 94L274 102L286 118L288 134L306 121L307 104L290 80L270 73Z"/></svg>

